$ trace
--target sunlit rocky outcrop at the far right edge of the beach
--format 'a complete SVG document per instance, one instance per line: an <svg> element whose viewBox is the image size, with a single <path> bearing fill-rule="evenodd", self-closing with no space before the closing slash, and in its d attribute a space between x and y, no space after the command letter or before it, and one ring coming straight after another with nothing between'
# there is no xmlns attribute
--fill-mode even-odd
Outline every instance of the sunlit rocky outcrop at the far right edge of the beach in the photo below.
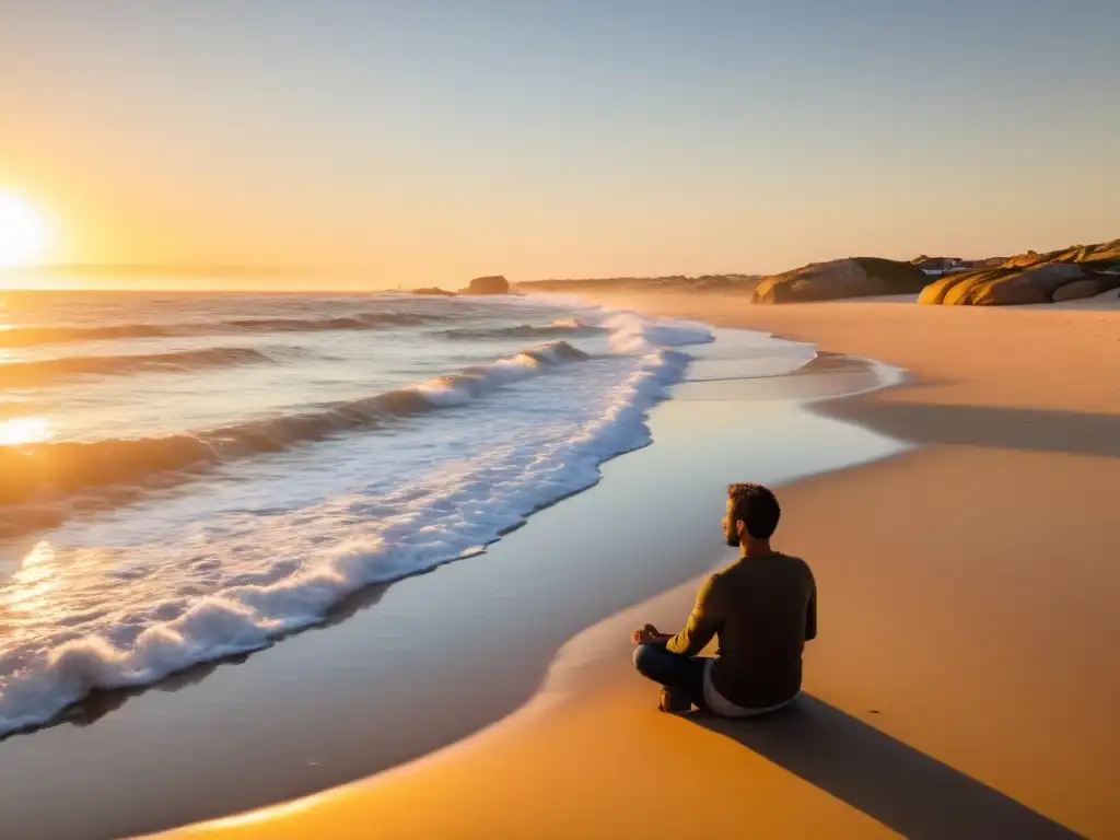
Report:
<svg viewBox="0 0 1120 840"><path fill-rule="evenodd" d="M950 274L927 286L920 304L1016 306L1094 297L1120 287L1120 241L1028 251L998 268Z"/></svg>

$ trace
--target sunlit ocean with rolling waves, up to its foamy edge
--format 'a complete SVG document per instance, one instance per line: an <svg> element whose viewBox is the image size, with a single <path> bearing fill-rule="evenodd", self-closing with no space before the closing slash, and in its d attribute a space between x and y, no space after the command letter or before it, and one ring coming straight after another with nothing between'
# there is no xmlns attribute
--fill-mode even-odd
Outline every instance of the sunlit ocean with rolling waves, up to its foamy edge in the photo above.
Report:
<svg viewBox="0 0 1120 840"><path fill-rule="evenodd" d="M469 562L648 444L712 340L519 297L0 300L0 735Z"/></svg>

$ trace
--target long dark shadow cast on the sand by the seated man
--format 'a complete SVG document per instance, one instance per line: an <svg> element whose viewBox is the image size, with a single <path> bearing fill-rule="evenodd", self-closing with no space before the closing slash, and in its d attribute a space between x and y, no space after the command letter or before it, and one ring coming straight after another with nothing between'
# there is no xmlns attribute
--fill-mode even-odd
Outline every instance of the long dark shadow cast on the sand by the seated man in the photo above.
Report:
<svg viewBox="0 0 1120 840"><path fill-rule="evenodd" d="M787 709L753 720L698 712L687 717L908 838L1080 837L808 694Z"/></svg>

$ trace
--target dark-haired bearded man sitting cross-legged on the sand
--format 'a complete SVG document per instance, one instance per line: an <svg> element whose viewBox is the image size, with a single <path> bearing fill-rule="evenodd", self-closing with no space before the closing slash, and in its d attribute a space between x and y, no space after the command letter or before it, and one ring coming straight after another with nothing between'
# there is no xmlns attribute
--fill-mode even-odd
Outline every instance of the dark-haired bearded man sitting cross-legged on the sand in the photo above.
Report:
<svg viewBox="0 0 1120 840"><path fill-rule="evenodd" d="M638 673L661 683L662 711L727 717L773 711L801 691L801 654L816 637L816 585L804 560L771 548L782 511L759 484L727 488L724 529L739 559L712 575L675 636L634 631ZM715 657L700 651L719 637Z"/></svg>

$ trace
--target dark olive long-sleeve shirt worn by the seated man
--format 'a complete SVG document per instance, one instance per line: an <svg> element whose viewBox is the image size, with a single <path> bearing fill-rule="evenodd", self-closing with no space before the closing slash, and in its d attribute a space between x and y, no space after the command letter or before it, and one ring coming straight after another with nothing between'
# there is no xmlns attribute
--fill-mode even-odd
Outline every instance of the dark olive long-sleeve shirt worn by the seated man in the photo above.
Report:
<svg viewBox="0 0 1120 840"><path fill-rule="evenodd" d="M666 643L696 656L719 637L711 684L744 709L776 706L801 690L801 654L816 637L816 585L809 564L775 552L740 558L700 589L688 625Z"/></svg>

